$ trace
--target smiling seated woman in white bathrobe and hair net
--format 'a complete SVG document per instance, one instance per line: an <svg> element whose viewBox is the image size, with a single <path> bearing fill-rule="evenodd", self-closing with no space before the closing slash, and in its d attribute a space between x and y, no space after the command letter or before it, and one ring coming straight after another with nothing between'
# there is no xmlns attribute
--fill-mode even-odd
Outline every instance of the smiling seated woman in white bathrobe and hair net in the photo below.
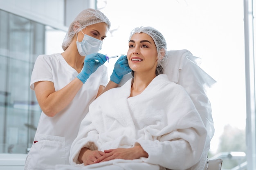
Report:
<svg viewBox="0 0 256 170"><path fill-rule="evenodd" d="M162 74L166 41L135 28L127 59L134 78L99 96L60 170L203 170L207 130L189 94Z"/></svg>

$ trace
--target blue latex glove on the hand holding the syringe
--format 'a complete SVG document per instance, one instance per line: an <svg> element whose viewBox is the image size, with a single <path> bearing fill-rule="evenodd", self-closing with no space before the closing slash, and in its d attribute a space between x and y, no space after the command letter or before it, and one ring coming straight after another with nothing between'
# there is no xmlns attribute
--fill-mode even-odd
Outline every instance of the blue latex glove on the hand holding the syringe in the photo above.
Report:
<svg viewBox="0 0 256 170"><path fill-rule="evenodd" d="M93 53L90 55L86 55L83 64L83 70L76 77L80 79L81 82L83 82L84 84L86 80L90 77L90 75L94 73L97 70L97 68L99 68L99 66L104 64L106 61L106 56L101 53Z"/></svg>

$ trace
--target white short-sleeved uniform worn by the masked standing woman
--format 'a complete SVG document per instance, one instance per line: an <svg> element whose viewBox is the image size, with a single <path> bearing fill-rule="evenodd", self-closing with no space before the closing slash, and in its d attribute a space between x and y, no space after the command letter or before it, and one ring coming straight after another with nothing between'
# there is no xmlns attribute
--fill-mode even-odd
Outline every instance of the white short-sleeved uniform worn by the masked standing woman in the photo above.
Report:
<svg viewBox="0 0 256 170"><path fill-rule="evenodd" d="M61 53L39 55L31 75L30 88L34 90L35 82L50 81L54 83L55 91L58 91L77 75L77 71L67 64ZM96 98L99 86L106 86L107 78L107 68L102 65L90 75L72 102L61 112L54 117L41 113L34 144L25 163L26 170L43 170L53 168L56 164L69 164L70 147L80 123Z"/></svg>

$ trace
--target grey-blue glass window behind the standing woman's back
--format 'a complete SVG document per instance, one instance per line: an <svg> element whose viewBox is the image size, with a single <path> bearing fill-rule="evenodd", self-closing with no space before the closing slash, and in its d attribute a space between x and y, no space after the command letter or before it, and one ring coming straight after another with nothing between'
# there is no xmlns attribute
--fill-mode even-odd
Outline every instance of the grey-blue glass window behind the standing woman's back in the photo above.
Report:
<svg viewBox="0 0 256 170"><path fill-rule="evenodd" d="M0 153L27 153L41 114L30 77L49 27L5 11L0 18Z"/></svg>

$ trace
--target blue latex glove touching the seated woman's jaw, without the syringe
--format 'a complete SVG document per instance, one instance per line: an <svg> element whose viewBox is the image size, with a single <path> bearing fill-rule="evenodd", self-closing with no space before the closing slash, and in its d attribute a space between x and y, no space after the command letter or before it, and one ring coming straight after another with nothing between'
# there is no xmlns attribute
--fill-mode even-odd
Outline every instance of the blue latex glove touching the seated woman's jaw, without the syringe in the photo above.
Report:
<svg viewBox="0 0 256 170"><path fill-rule="evenodd" d="M129 67L127 56L122 55L115 63L112 75L110 75L110 80L116 84L119 84L123 76L127 73L130 73L131 71L132 69Z"/></svg>

